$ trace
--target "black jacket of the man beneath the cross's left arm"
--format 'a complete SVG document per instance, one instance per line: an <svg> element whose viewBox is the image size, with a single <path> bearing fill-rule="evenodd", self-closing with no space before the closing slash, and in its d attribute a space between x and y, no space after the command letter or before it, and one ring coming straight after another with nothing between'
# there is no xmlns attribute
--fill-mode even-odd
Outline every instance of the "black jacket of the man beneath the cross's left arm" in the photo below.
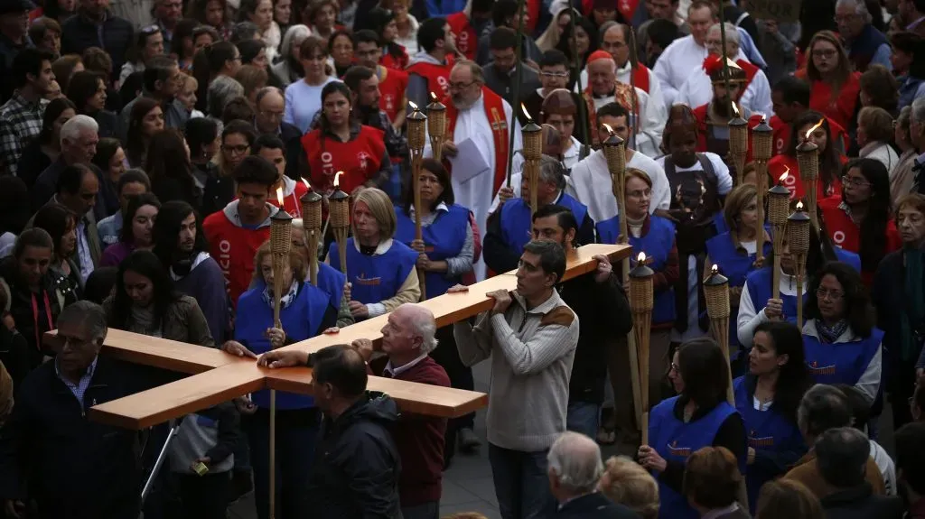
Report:
<svg viewBox="0 0 925 519"><path fill-rule="evenodd" d="M28 481L43 518L138 517L138 433L89 420L86 412L142 389L131 366L98 356L81 407L54 361L32 371L0 429L0 498L26 498Z"/></svg>

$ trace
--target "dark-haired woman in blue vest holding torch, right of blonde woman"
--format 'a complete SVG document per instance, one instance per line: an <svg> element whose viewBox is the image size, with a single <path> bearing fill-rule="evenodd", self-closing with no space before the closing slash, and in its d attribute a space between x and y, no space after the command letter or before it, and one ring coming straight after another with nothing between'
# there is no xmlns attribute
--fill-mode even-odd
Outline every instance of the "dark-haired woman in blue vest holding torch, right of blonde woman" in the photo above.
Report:
<svg viewBox="0 0 925 519"><path fill-rule="evenodd" d="M423 240L414 238L414 191L413 182L407 182L401 196L401 206L395 207L398 229L395 239L412 247L417 253L417 266L424 270L427 298L442 296L455 284L462 284L462 274L472 272L475 256L475 235L469 219L469 210L454 203L450 173L442 163L424 159L419 176L421 187L421 233ZM453 338L452 326L437 331L438 346L431 356L450 377L450 385L457 389L472 391L475 380L472 368L460 360ZM454 418L450 421L444 437L444 457L449 463L455 453L459 438L462 450L474 449L478 444L475 436L475 413Z"/></svg>

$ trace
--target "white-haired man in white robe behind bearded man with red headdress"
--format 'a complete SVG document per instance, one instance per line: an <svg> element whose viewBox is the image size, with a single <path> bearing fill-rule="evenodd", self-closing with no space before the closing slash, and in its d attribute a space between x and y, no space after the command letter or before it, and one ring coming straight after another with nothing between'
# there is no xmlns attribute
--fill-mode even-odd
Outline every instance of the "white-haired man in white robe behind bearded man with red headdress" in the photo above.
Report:
<svg viewBox="0 0 925 519"><path fill-rule="evenodd" d="M730 59L739 54L739 31L735 26L726 22L726 55ZM722 34L720 24L715 23L707 33L707 48L711 55L722 55ZM771 104L771 84L758 66L748 63L744 59L735 60L735 64L746 72L746 82L742 85L742 93L737 100L743 107L751 112L759 112L770 116L774 113ZM685 103L691 108L703 106L713 100L713 85L707 72L697 70L678 91L676 103Z"/></svg>

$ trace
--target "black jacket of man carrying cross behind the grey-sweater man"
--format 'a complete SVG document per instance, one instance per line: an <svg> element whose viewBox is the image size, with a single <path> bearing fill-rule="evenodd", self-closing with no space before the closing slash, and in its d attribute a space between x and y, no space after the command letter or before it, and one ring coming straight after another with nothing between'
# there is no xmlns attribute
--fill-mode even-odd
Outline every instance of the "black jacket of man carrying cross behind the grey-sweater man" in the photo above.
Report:
<svg viewBox="0 0 925 519"><path fill-rule="evenodd" d="M559 296L583 323L569 379L569 402L604 402L611 338L633 330L630 304L617 274L611 272L611 278L604 283L594 277L595 272L588 272L558 287Z"/></svg>

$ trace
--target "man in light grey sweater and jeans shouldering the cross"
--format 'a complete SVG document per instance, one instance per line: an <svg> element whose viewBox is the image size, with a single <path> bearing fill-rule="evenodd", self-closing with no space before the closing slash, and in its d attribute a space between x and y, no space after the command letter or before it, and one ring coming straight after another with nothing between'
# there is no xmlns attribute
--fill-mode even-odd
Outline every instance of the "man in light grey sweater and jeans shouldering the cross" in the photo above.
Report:
<svg viewBox="0 0 925 519"><path fill-rule="evenodd" d="M475 327L463 320L453 328L463 364L491 357L488 460L504 519L554 511L546 454L565 431L578 343L578 317L555 290L564 272L561 245L528 243L517 269L517 290L487 294L495 299L494 308L480 314ZM455 290L461 289L450 289Z"/></svg>

